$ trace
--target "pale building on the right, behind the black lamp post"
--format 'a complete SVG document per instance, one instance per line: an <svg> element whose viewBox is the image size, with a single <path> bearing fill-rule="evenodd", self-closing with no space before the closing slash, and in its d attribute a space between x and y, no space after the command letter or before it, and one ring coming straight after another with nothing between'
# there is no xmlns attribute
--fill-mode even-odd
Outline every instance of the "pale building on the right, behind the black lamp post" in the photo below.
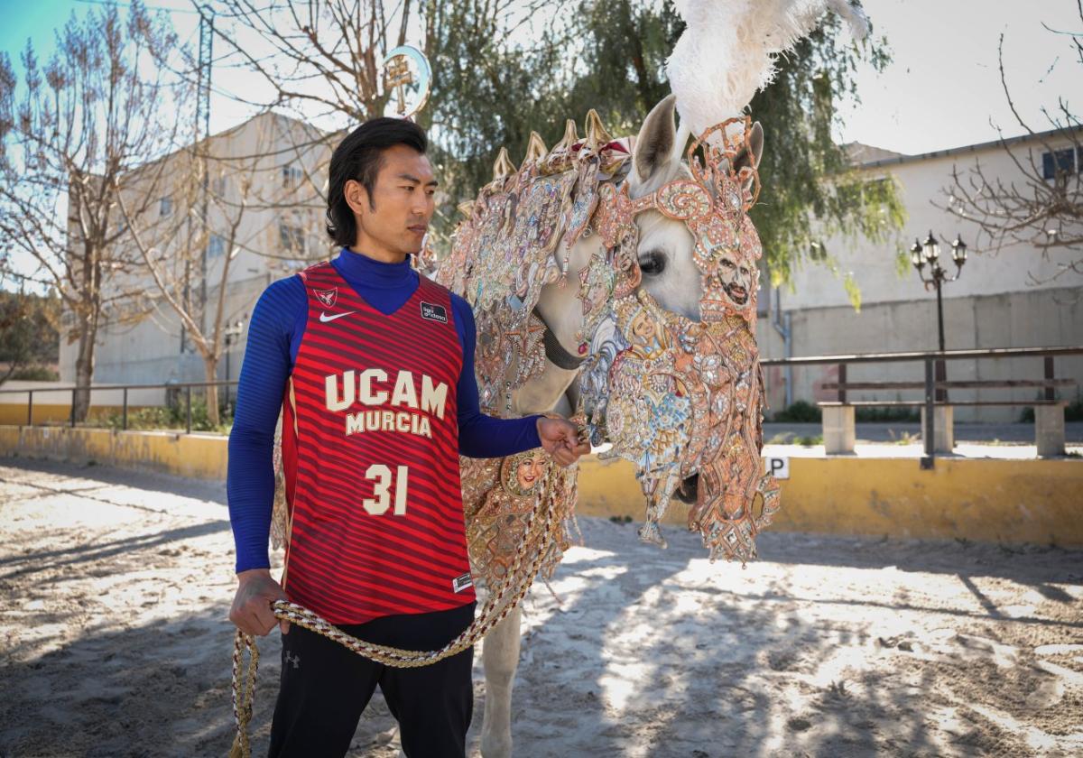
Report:
<svg viewBox="0 0 1083 758"><path fill-rule="evenodd" d="M1071 142L1054 135L1018 139L1008 145L1021 159L1031 157L1043 166L1043 144L1074 151ZM1062 144L1061 144L1062 143ZM971 145L916 156L889 154L860 146L854 151L860 170L872 177L890 175L901 188L908 221L893 249L867 240L828 239L827 250L837 263L833 273L824 265L805 263L793 277L793 289L771 291L769 313L760 316L758 336L764 357L887 353L936 350L937 298L927 291L911 265L906 250L915 237L931 231L941 239L941 264L954 274L950 241L956 235L969 246L968 258L957 280L942 287L944 343L947 350L1083 345L1083 276L1061 273L1061 264L1083 258L1081 249L1005 247L980 249L978 227L942 209L953 184L952 171L964 179L980 165L987 179L1022 184L1023 177L999 143ZM1083 169L1075 156L1072 170ZM1048 159L1046 158L1046 164ZM765 195L768 194L767 188ZM766 199L766 198L761 198ZM905 256L903 262L899 256ZM850 303L843 286L849 273L861 293L860 310ZM1059 276L1057 274L1060 274ZM927 274L927 269L926 269ZM767 290L761 290L761 300ZM788 327L788 340L785 332ZM787 343L788 342L788 350ZM951 361L949 380L1041 379L1041 358ZM1057 357L1056 376L1083 383L1083 356ZM787 379L792 400L832 401L834 390L822 384L837 380L834 365L794 368L768 367L770 414L785 407ZM848 381L919 381L921 363L851 365ZM1040 389L952 390L949 400L1026 401ZM1057 396L1073 401L1080 388L1058 388ZM918 391L849 392L847 400L921 400ZM957 421L1009 421L1022 407L958 407Z"/></svg>

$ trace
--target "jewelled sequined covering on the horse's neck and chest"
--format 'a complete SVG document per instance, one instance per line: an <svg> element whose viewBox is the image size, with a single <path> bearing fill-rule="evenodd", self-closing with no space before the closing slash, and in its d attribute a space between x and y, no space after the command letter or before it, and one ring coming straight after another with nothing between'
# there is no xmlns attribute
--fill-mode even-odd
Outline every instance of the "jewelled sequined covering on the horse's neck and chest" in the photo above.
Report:
<svg viewBox="0 0 1083 758"><path fill-rule="evenodd" d="M482 409L491 415L511 416L512 393L544 370L545 324L534 308L543 287L564 278L566 250L591 233L599 183L618 170L628 155L623 145L600 153L586 151L572 138L574 127L550 153L498 175L472 204L461 206L467 218L455 232L451 254L436 269L435 279L473 309L474 374ZM601 275L591 290L597 308L604 305L612 291L605 279ZM569 545L564 522L575 506L577 467L553 466L542 450L497 460L462 458L460 462L475 580L499 586L514 562L526 519L546 481L551 483L551 507L559 522L556 538L549 546L527 545L525 549L529 554L546 550L542 575L551 576Z"/></svg>

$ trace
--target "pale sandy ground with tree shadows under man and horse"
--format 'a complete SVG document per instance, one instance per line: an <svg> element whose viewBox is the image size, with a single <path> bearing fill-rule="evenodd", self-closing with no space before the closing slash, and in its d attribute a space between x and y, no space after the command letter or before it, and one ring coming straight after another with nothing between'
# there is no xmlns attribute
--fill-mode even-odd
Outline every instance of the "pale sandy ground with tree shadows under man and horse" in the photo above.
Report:
<svg viewBox="0 0 1083 758"><path fill-rule="evenodd" d="M0 459L0 756L222 756L224 487ZM1078 756L1083 552L766 534L745 570L583 519L532 592L517 756ZM263 651L265 750L279 669ZM480 657L480 656L479 656ZM475 666L475 722L484 698ZM352 756L395 755L377 697Z"/></svg>

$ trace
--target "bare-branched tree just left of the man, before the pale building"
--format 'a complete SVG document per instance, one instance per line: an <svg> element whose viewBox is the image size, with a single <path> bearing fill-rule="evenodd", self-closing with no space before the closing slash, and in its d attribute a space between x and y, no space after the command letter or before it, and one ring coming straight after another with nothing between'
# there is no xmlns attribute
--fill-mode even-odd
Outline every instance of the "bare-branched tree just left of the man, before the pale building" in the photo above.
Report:
<svg viewBox="0 0 1083 758"><path fill-rule="evenodd" d="M323 205L305 184L304 169L326 158L315 146L293 151L301 142L314 145L314 131L264 114L168 156L164 161L175 178L171 196L179 204L169 224L141 222L129 212L145 194L141 172L118 180L121 213L154 298L180 321L208 382L218 379L230 324L249 306L230 298L238 256L292 262L316 252L305 230L315 226ZM207 388L206 400L208 421L218 426L217 387Z"/></svg>

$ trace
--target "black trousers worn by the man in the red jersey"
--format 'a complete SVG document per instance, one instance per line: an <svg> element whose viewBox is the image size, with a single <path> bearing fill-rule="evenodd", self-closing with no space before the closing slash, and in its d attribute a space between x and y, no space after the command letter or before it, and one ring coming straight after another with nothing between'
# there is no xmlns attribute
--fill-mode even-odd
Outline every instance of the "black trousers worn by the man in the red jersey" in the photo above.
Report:
<svg viewBox="0 0 1083 758"><path fill-rule="evenodd" d="M339 627L366 642L438 650L470 626L474 603ZM419 668L392 668L293 625L282 638L272 758L345 755L379 684L409 758L462 758L473 714L473 648Z"/></svg>

